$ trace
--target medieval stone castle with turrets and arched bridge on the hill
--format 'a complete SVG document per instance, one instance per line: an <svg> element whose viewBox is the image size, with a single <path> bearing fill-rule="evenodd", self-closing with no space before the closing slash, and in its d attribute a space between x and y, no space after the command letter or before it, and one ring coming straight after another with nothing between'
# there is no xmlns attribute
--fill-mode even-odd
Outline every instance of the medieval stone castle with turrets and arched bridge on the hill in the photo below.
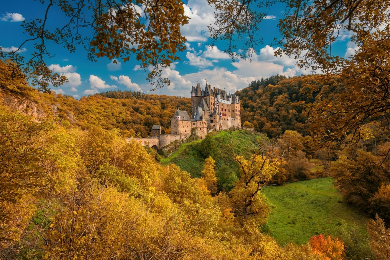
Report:
<svg viewBox="0 0 390 260"><path fill-rule="evenodd" d="M177 109L171 120L171 133L161 134L161 126L152 126L151 138L134 138L154 149L164 147L174 140L183 140L191 131L203 139L211 131L221 131L241 126L240 99L220 88L198 83L191 89L191 114Z"/></svg>

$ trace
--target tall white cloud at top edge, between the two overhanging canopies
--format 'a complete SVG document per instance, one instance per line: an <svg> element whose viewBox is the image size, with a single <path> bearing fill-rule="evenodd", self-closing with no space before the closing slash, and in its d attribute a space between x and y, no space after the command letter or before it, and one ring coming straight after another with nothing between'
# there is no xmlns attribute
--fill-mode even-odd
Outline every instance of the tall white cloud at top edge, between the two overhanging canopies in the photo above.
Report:
<svg viewBox="0 0 390 260"><path fill-rule="evenodd" d="M188 0L183 4L184 14L190 19L189 23L181 27L181 34L189 42L205 42L209 38L207 26L214 24L214 6L208 5L206 0Z"/></svg>

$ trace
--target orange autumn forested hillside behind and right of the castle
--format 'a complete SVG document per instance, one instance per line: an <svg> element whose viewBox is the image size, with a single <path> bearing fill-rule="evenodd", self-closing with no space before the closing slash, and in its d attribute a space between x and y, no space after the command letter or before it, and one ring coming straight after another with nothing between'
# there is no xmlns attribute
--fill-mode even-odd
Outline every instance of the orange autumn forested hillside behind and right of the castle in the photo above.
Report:
<svg viewBox="0 0 390 260"><path fill-rule="evenodd" d="M241 122L252 123L256 131L270 138L280 136L285 130L306 136L309 134L307 109L319 93L334 99L342 87L336 80L327 82L321 75L294 78L276 75L252 81L237 92L241 99Z"/></svg>

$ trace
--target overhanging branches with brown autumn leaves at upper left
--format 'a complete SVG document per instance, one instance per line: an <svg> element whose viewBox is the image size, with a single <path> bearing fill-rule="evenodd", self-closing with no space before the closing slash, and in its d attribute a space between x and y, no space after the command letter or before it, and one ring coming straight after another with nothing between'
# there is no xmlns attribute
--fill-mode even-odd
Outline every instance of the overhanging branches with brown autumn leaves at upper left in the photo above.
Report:
<svg viewBox="0 0 390 260"><path fill-rule="evenodd" d="M45 63L51 57L46 48L48 42L62 44L70 52L82 46L88 51L88 59L99 57L129 60L135 55L141 67L149 69L148 80L153 88L169 84L161 78L161 72L174 60L177 51L185 49L185 37L180 26L188 23L181 1L176 0L98 0L98 1L41 1L45 4L44 18L23 22L22 27L29 37L20 44L18 50L0 50L0 58L12 60L13 76L25 73L32 77L32 84L48 91L49 84L57 87L66 82L65 76L53 73ZM50 29L49 13L55 7L66 15L64 24ZM92 32L86 33L86 32ZM35 52L31 57L18 53L27 42L33 42ZM20 70L20 68L23 68ZM154 82L154 78L158 80Z"/></svg>

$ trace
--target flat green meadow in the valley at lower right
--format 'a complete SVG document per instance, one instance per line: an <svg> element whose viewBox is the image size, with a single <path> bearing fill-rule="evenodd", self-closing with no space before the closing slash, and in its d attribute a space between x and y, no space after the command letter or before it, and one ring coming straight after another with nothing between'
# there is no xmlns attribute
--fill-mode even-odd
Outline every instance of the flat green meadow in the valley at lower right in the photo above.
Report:
<svg viewBox="0 0 390 260"><path fill-rule="evenodd" d="M332 178L304 180L262 190L271 205L271 235L281 245L305 244L312 235L340 235L343 223L356 224L366 235L366 219L342 202Z"/></svg>

